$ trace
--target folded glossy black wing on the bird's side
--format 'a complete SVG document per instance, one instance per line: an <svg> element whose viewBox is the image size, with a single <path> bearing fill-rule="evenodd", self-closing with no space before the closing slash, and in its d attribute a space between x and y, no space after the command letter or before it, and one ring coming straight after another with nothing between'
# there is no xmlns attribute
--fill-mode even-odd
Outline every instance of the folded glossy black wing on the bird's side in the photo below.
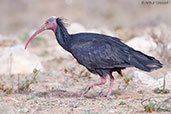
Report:
<svg viewBox="0 0 171 114"><path fill-rule="evenodd" d="M75 40L70 50L77 61L88 68L114 68L130 66L129 47L118 39L84 38Z"/></svg>

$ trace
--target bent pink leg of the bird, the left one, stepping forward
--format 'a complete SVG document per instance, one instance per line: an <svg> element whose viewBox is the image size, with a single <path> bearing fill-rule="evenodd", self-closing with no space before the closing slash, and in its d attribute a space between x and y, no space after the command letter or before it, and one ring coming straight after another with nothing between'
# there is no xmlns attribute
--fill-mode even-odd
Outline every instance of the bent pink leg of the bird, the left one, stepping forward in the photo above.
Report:
<svg viewBox="0 0 171 114"><path fill-rule="evenodd" d="M86 94L86 93L90 90L90 88L92 88L92 87L94 87L94 86L103 85L103 84L106 83L106 77L102 77L102 76L100 76L100 77L101 77L101 82L95 82L95 83L89 84L89 85L86 87L86 89L85 89L85 91L84 91L84 94Z"/></svg>

